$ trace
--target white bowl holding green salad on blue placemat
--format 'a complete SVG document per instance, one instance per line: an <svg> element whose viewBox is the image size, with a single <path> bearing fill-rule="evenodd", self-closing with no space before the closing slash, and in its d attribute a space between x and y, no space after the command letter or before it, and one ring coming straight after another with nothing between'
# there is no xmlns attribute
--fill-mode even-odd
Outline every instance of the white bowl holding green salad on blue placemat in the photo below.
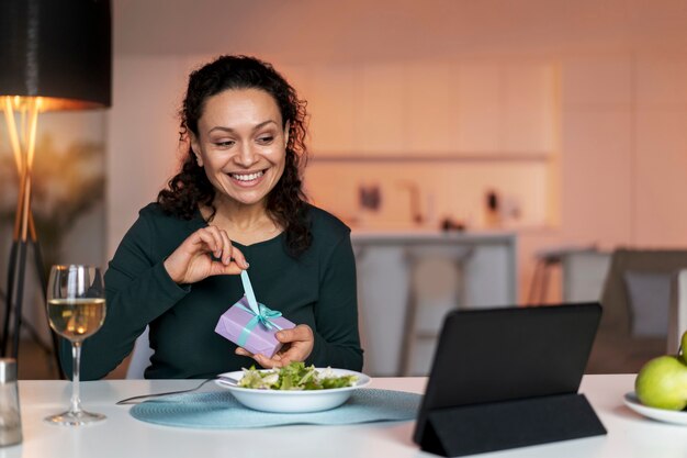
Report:
<svg viewBox="0 0 687 458"><path fill-rule="evenodd" d="M317 368L317 371L323 370L325 369ZM370 383L370 377L364 373L347 369L331 369L331 371L335 376L353 375L358 377L358 380L352 387L304 391L255 390L236 387L221 379L215 380L215 383L232 391L234 398L247 407L257 411L279 413L319 412L338 407L350 398L354 390ZM240 380L244 377L244 372L237 370L223 373L222 376Z"/></svg>

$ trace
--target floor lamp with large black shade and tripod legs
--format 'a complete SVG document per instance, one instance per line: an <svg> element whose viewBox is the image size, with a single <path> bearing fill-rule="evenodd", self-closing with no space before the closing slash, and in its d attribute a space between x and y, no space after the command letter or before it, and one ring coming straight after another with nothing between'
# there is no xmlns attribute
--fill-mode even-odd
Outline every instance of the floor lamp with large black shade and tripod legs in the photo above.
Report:
<svg viewBox="0 0 687 458"><path fill-rule="evenodd" d="M44 292L47 284L31 211L33 164L41 160L35 147L38 115L110 107L111 30L110 0L0 1L0 105L20 177L0 338L2 357L18 358L20 331L27 327L22 323L22 303L30 247ZM59 368L54 333L52 345Z"/></svg>

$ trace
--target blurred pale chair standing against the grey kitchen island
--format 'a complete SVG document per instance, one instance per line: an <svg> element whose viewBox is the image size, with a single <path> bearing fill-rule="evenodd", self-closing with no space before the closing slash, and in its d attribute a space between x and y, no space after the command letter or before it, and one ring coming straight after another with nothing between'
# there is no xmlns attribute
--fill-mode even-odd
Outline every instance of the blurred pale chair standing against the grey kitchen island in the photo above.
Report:
<svg viewBox="0 0 687 458"><path fill-rule="evenodd" d="M427 375L441 320L450 309L465 306L466 246L408 246L408 303L403 333L399 375ZM424 345L424 368L417 369L418 345Z"/></svg>

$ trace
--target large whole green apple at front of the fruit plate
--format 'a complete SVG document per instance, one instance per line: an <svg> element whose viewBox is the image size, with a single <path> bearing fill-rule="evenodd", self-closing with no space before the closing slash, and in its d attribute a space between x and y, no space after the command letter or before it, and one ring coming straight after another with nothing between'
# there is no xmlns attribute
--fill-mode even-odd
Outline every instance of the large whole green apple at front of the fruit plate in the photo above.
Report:
<svg viewBox="0 0 687 458"><path fill-rule="evenodd" d="M677 356L654 358L640 369L634 391L644 405L682 411L687 406L687 365Z"/></svg>

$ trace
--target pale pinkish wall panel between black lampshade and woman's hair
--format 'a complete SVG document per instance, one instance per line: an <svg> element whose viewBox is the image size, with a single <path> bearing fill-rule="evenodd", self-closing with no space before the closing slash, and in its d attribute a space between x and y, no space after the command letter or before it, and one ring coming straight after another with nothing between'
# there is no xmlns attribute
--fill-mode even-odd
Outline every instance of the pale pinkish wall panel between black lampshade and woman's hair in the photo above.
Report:
<svg viewBox="0 0 687 458"><path fill-rule="evenodd" d="M188 68L179 57L116 56L108 131L108 253L173 175L176 121Z"/></svg>

